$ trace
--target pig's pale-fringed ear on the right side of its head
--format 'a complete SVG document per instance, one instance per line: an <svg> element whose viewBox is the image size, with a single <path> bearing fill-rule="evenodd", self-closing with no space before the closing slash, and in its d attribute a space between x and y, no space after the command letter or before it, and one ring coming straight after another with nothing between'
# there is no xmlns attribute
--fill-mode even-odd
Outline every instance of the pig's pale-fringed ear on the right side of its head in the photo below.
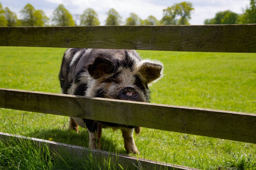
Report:
<svg viewBox="0 0 256 170"><path fill-rule="evenodd" d="M143 60L142 60L143 61ZM143 62L139 68L146 83L151 83L162 77L163 64L161 62Z"/></svg>

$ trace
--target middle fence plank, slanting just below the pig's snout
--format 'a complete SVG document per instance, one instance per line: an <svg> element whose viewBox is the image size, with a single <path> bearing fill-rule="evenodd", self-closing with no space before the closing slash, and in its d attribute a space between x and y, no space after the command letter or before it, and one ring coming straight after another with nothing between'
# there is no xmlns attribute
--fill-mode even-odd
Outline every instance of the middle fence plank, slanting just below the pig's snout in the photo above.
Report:
<svg viewBox="0 0 256 170"><path fill-rule="evenodd" d="M0 107L256 143L256 114L0 88Z"/></svg>

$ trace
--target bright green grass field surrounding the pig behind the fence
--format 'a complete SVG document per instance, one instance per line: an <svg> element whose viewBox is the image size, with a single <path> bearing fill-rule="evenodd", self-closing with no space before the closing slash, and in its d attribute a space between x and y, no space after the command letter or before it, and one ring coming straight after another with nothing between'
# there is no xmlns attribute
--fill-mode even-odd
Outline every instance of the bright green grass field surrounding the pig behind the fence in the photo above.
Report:
<svg viewBox="0 0 256 170"><path fill-rule="evenodd" d="M60 93L58 73L65 50L0 47L0 87ZM152 103L256 113L256 54L138 52L143 58L164 63L165 76L150 88ZM2 109L0 121L2 132L88 145L87 131L80 128L76 134L69 130L65 116ZM101 142L102 150L126 153L120 131L104 129ZM147 128L135 136L135 143L142 158L199 169L256 169L255 144ZM37 162L29 164L32 169L52 169L60 163L49 158L26 161L38 156L17 156L22 155L19 147L0 143L0 169L26 169L27 162Z"/></svg>

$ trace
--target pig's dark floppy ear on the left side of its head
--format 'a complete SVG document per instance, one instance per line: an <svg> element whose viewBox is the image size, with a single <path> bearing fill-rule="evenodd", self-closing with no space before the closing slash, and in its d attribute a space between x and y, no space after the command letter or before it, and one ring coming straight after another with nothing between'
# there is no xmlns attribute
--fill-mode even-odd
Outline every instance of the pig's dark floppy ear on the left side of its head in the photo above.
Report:
<svg viewBox="0 0 256 170"><path fill-rule="evenodd" d="M87 69L92 78L100 78L104 74L114 71L114 63L103 57L97 57L92 64L87 65Z"/></svg>

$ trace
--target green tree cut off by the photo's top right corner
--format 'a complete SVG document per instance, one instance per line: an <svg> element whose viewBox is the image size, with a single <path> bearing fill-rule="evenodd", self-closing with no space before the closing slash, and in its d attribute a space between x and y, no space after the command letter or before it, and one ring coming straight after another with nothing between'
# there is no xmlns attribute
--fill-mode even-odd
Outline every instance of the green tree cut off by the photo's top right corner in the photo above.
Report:
<svg viewBox="0 0 256 170"><path fill-rule="evenodd" d="M246 7L239 20L243 24L256 24L256 0L251 0L250 6Z"/></svg>

